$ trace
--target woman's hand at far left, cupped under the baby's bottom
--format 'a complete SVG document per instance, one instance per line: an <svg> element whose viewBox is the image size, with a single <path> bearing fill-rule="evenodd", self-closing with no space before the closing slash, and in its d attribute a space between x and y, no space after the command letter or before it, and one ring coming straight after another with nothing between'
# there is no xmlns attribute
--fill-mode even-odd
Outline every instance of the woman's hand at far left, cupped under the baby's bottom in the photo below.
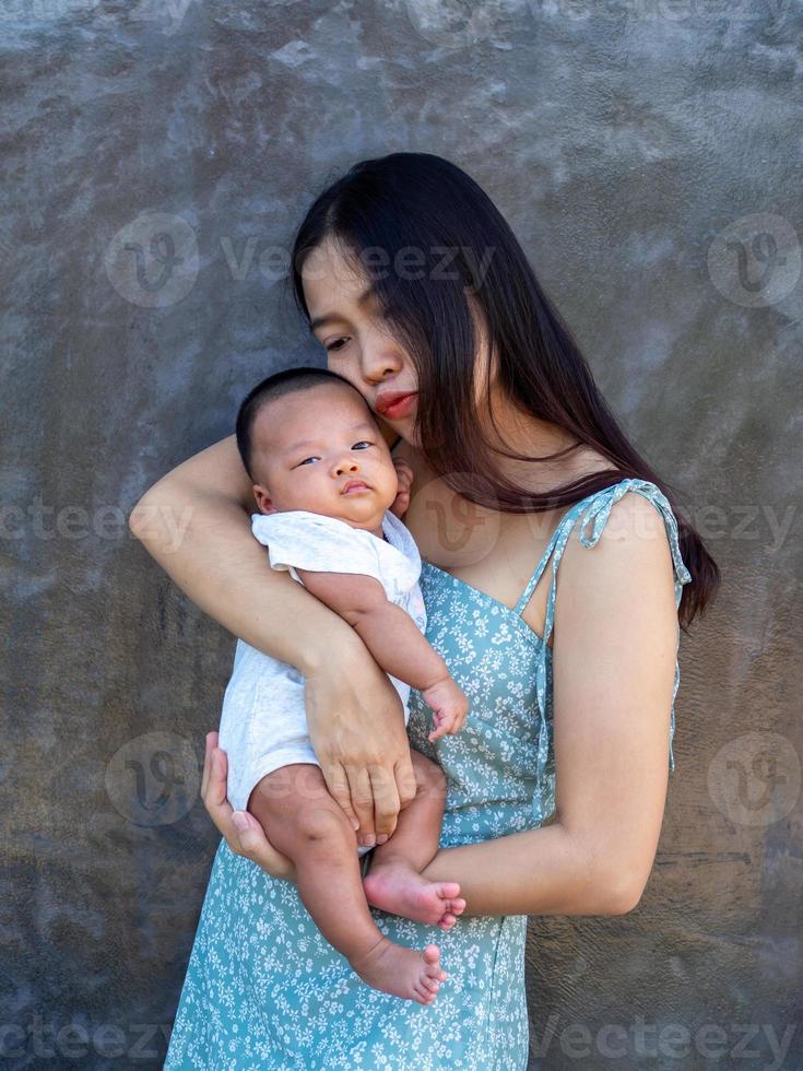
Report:
<svg viewBox="0 0 803 1071"><path fill-rule="evenodd" d="M234 811L226 798L228 764L225 751L217 746L217 733L206 733L206 751L203 757L201 799L209 815L217 826L226 844L237 856L256 862L271 878L295 881L296 871L287 859L271 845L264 829L248 811Z"/></svg>

